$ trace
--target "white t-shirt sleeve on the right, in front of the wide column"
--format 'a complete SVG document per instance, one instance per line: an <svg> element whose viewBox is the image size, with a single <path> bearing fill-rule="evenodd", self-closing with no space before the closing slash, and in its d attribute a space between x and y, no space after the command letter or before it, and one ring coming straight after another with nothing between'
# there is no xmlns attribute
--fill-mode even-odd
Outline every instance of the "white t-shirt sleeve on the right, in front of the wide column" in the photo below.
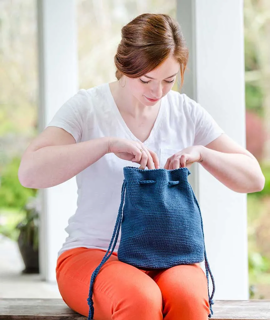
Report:
<svg viewBox="0 0 270 320"><path fill-rule="evenodd" d="M206 146L218 138L224 131L215 119L199 103L189 99L191 118L195 126L194 146Z"/></svg>

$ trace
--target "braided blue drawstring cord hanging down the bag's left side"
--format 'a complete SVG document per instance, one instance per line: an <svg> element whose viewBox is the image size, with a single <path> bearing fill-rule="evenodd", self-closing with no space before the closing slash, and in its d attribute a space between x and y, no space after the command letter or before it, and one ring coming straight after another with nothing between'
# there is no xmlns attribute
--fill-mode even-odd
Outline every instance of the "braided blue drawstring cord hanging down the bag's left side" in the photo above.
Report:
<svg viewBox="0 0 270 320"><path fill-rule="evenodd" d="M116 246L116 243L117 243L117 239L118 239L119 231L120 231L120 227L121 227L121 221L122 221L122 210L123 210L123 205L124 205L124 197L125 197L126 185L127 185L127 182L126 182L126 180L124 180L123 185L122 185L122 192L121 192L121 204L120 204L120 207L119 207L118 216L117 216L116 224L115 224L115 227L114 227L114 233L113 233L111 242L109 244L109 248L108 248L107 252L105 253L104 258L101 260L99 266L94 270L94 272L93 272L93 274L91 276L89 297L87 299L87 303L89 305L89 315L88 315L88 319L87 320L91 320L91 319L94 318L94 306L93 306L93 298L92 297L93 297L93 284L94 284L95 278L96 278L100 268L104 265L104 263L112 255L112 253L114 251L114 248ZM115 233L116 233L116 237L114 239ZM112 246L113 240L114 240L114 244L113 244L111 253L108 255L108 253L110 251L110 248Z"/></svg>

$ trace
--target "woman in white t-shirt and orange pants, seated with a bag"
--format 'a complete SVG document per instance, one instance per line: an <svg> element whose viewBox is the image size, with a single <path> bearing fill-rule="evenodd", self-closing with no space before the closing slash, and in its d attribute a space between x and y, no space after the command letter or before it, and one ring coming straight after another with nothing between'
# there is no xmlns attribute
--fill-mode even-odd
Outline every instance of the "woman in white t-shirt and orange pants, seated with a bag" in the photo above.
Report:
<svg viewBox="0 0 270 320"><path fill-rule="evenodd" d="M80 90L22 157L18 174L25 187L48 188L76 175L78 208L65 229L56 277L63 300L82 315L89 312L91 274L113 233L124 166L171 170L199 162L236 192L264 187L256 158L198 103L171 90L179 72L183 83L187 60L175 20L140 15L122 28L117 81ZM118 245L95 280L96 320L208 319L199 264L140 270L117 259Z"/></svg>

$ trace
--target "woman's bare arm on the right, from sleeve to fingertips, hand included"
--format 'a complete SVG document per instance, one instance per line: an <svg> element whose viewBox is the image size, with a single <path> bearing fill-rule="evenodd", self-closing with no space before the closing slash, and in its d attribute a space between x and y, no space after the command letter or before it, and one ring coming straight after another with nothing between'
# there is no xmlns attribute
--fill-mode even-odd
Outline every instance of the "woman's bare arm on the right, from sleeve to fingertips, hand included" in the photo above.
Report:
<svg viewBox="0 0 270 320"><path fill-rule="evenodd" d="M165 169L189 168L199 162L226 187L251 193L264 188L265 177L257 159L225 133L207 146L191 146L167 159Z"/></svg>

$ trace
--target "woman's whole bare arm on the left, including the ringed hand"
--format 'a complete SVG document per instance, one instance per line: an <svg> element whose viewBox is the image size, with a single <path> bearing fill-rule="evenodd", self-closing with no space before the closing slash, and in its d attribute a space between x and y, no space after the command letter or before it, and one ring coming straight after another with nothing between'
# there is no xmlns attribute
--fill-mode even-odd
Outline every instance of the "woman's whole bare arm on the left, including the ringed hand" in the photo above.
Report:
<svg viewBox="0 0 270 320"><path fill-rule="evenodd" d="M76 143L70 133L52 126L24 152L18 178L26 188L53 187L71 179L107 153L139 163L142 169L159 166L156 153L138 141L103 137Z"/></svg>

